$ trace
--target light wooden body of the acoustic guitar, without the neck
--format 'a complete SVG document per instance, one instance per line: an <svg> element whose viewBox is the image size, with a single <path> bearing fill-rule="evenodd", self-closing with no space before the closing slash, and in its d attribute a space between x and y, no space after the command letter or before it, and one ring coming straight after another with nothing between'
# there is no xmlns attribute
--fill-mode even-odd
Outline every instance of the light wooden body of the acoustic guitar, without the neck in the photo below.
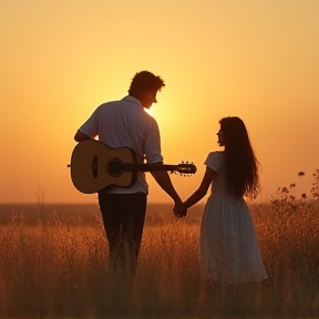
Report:
<svg viewBox="0 0 319 319"><path fill-rule="evenodd" d="M131 186L136 172L112 173L110 168L116 163L136 163L134 151L130 147L112 148L95 140L80 142L71 156L73 185L84 194L96 193L110 185Z"/></svg>

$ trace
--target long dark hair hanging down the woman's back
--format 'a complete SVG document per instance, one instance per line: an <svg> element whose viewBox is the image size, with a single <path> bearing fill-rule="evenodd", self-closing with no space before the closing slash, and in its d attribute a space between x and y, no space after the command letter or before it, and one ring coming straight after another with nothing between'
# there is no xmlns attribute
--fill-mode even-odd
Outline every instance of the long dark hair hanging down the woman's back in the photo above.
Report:
<svg viewBox="0 0 319 319"><path fill-rule="evenodd" d="M236 116L219 121L225 145L226 182L235 196L255 198L259 193L259 163L244 122Z"/></svg>

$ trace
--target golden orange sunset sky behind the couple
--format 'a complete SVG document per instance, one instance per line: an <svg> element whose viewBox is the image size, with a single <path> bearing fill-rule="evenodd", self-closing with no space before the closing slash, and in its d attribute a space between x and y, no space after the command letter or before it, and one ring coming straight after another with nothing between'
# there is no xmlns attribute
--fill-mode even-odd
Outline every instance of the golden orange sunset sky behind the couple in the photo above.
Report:
<svg viewBox="0 0 319 319"><path fill-rule="evenodd" d="M151 114L183 199L198 186L218 121L239 116L261 163L268 200L309 192L319 168L318 0L1 0L0 204L95 203L66 165L95 107L148 70L166 86ZM305 172L303 177L298 172ZM147 174L150 203L168 195ZM207 196L203 199L205 200Z"/></svg>

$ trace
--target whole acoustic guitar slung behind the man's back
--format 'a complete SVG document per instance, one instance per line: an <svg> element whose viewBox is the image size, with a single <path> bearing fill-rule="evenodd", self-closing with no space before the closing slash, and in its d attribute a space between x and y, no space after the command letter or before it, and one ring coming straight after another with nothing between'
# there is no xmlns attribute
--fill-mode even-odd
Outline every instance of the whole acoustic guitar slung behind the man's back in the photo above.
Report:
<svg viewBox="0 0 319 319"><path fill-rule="evenodd" d="M135 182L137 172L169 171L184 176L196 173L196 166L187 162L177 165L140 164L131 147L113 148L96 140L78 143L68 167L71 168L73 185L84 194L97 193L111 185L128 187Z"/></svg>

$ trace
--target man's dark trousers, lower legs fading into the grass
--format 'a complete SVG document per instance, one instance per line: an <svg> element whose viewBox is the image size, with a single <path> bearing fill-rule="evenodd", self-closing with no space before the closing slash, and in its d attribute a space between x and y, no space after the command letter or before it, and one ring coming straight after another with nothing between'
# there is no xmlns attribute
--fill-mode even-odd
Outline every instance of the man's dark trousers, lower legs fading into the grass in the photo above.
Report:
<svg viewBox="0 0 319 319"><path fill-rule="evenodd" d="M146 194L99 194L114 275L134 275L142 243Z"/></svg>

